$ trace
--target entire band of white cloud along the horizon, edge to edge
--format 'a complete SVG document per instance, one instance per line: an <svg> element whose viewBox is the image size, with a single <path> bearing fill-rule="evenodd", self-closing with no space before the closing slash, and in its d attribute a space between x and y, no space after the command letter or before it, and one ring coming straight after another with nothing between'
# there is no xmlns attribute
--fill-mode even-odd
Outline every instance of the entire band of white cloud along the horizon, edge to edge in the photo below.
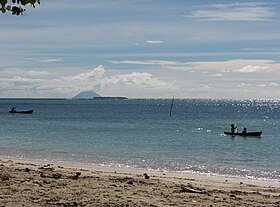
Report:
<svg viewBox="0 0 280 207"><path fill-rule="evenodd" d="M60 68L48 72L9 68L0 73L0 97L72 97L88 90L104 96L131 98L166 98L170 94L178 98L279 97L280 64L270 60L149 60L115 64L134 64L133 67L139 64L141 72L105 70L102 65L92 69ZM153 67L146 68L142 64Z"/></svg>

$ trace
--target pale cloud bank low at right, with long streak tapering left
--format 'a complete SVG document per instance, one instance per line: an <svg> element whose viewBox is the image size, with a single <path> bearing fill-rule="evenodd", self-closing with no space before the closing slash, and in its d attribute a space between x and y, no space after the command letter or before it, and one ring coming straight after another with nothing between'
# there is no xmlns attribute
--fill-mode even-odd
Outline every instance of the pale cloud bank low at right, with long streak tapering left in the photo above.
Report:
<svg viewBox="0 0 280 207"><path fill-rule="evenodd" d="M139 68L146 65L153 66L151 69L157 71L157 76L161 75L169 80L176 80L174 86L177 89L173 90L176 96L194 98L279 97L276 84L279 82L280 64L272 60L236 59L213 62L126 60L112 63L139 65ZM268 86L269 81L273 82L272 85L275 86L267 94L265 87L258 86L260 84ZM256 88L258 88L257 91Z"/></svg>

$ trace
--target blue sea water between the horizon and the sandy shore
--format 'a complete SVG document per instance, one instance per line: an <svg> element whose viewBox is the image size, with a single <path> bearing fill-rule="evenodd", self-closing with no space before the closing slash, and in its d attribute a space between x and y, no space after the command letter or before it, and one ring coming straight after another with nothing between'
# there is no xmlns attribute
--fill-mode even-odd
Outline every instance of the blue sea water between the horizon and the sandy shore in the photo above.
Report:
<svg viewBox="0 0 280 207"><path fill-rule="evenodd" d="M0 99L0 156L280 180L279 100ZM33 114L9 114L33 109ZM263 131L261 137L223 135Z"/></svg>

